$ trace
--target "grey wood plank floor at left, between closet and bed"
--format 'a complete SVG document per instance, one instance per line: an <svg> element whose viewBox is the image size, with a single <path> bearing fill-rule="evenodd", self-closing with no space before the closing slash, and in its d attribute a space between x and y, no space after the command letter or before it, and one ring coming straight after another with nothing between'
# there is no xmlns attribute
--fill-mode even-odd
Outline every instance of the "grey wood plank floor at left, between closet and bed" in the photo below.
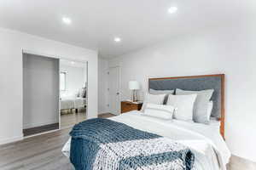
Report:
<svg viewBox="0 0 256 170"><path fill-rule="evenodd" d="M71 128L0 146L0 169L73 169L61 153Z"/></svg>

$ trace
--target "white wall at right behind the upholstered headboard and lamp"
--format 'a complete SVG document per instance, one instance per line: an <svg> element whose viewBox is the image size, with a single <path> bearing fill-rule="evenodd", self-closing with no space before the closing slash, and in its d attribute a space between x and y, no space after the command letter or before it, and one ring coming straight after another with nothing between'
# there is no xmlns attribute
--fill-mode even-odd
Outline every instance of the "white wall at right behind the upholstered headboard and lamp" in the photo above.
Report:
<svg viewBox="0 0 256 170"><path fill-rule="evenodd" d="M111 59L121 67L121 98L129 98L128 82L148 77L224 73L225 136L231 152L256 161L256 25L237 23L201 31ZM141 93L143 94L143 93Z"/></svg>

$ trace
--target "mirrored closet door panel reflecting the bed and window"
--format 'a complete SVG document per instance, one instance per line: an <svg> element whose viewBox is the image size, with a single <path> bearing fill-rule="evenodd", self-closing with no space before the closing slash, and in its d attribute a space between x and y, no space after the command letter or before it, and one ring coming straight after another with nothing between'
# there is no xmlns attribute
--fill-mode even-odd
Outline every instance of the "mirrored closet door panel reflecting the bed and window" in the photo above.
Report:
<svg viewBox="0 0 256 170"><path fill-rule="evenodd" d="M61 128L71 127L86 119L87 63L60 60Z"/></svg>

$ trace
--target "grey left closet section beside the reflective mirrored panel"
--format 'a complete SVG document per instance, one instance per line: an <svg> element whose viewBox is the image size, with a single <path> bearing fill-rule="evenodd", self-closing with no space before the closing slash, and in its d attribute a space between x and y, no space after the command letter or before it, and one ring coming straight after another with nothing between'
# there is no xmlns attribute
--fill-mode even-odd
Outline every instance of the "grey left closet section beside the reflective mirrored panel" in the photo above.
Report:
<svg viewBox="0 0 256 170"><path fill-rule="evenodd" d="M59 59L23 54L24 136L59 128Z"/></svg>

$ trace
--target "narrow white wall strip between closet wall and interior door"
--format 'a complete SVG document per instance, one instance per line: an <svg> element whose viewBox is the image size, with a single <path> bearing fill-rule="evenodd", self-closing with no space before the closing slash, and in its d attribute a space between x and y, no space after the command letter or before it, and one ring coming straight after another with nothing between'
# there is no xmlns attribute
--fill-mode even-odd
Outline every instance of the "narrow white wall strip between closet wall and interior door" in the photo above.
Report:
<svg viewBox="0 0 256 170"><path fill-rule="evenodd" d="M98 63L98 111L102 114L108 112L108 60L99 58Z"/></svg>

